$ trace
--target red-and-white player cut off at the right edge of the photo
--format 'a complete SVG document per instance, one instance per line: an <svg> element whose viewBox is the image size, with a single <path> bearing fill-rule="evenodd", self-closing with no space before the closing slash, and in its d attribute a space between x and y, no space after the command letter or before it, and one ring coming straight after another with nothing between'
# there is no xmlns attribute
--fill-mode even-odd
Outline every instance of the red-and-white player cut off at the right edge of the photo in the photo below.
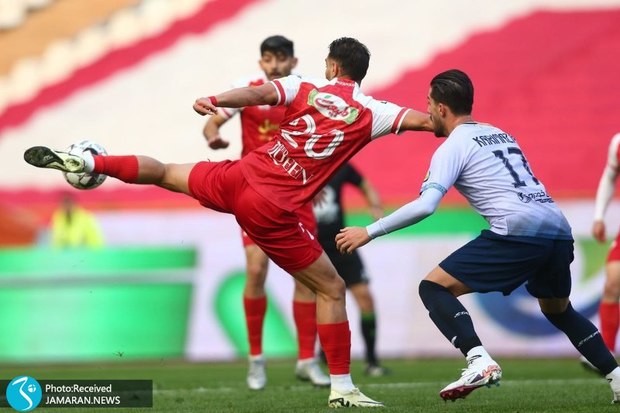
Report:
<svg viewBox="0 0 620 413"><path fill-rule="evenodd" d="M596 192L592 235L598 242L606 241L604 217L613 197L619 173L620 133L611 139L607 164L603 170L603 175ZM599 307L599 317L603 341L605 341L605 345L613 353L616 349L616 335L618 334L618 325L620 324L620 312L618 309L618 301L620 301L620 232L616 240L611 244L611 249L607 255L605 272L605 287Z"/></svg>

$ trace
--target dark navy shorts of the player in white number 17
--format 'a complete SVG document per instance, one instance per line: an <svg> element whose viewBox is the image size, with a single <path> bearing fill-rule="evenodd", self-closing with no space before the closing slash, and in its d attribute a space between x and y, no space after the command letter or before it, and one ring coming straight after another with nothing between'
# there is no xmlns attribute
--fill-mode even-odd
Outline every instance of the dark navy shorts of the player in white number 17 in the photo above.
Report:
<svg viewBox="0 0 620 413"><path fill-rule="evenodd" d="M473 291L510 294L523 283L536 298L570 295L573 240L498 235L484 230L441 267Z"/></svg>

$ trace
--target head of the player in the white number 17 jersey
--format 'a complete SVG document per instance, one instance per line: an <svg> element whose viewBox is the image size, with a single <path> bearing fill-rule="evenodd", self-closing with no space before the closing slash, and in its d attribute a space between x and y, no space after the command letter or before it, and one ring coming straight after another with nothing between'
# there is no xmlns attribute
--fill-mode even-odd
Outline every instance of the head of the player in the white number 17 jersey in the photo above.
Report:
<svg viewBox="0 0 620 413"><path fill-rule="evenodd" d="M447 136L447 119L471 115L474 85L465 72L447 70L431 80L427 100L435 136Z"/></svg>

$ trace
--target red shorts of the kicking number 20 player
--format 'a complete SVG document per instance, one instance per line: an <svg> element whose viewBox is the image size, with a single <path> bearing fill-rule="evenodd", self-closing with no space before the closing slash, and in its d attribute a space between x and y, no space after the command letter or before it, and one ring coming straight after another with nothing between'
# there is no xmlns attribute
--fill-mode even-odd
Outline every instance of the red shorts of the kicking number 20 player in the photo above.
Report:
<svg viewBox="0 0 620 413"><path fill-rule="evenodd" d="M312 206L293 213L272 204L250 186L238 161L199 162L188 186L201 205L233 214L248 237L289 273L308 267L323 253L314 219L306 222Z"/></svg>

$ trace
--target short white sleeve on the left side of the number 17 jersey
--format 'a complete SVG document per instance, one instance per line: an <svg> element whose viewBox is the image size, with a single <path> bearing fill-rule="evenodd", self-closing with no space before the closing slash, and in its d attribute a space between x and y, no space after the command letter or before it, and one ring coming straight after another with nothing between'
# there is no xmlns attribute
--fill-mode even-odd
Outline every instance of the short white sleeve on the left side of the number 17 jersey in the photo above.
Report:
<svg viewBox="0 0 620 413"><path fill-rule="evenodd" d="M464 140L448 139L433 154L420 193L434 188L446 194L454 185L466 164L469 151Z"/></svg>

